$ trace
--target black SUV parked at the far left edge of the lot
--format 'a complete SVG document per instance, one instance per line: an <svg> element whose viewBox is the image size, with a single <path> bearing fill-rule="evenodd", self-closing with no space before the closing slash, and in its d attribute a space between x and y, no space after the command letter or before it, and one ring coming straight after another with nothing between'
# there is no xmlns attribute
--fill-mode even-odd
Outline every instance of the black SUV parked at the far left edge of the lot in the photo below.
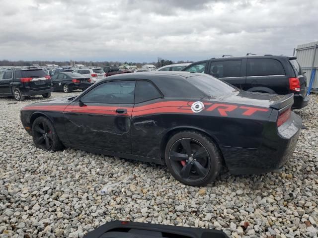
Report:
<svg viewBox="0 0 318 238"><path fill-rule="evenodd" d="M49 98L53 91L51 77L40 68L11 69L0 72L0 96L23 101L26 96Z"/></svg>

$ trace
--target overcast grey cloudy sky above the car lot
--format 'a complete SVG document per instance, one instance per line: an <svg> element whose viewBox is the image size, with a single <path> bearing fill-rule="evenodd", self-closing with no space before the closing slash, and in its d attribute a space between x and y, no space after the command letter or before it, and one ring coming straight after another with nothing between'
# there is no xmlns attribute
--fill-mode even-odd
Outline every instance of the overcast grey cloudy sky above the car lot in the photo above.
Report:
<svg viewBox="0 0 318 238"><path fill-rule="evenodd" d="M0 59L204 60L292 55L318 0L0 0Z"/></svg>

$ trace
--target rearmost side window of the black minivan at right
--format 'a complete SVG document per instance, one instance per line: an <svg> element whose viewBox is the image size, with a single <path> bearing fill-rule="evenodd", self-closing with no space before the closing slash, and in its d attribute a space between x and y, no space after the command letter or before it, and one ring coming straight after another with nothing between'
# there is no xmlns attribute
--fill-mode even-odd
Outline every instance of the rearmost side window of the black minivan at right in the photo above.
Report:
<svg viewBox="0 0 318 238"><path fill-rule="evenodd" d="M247 60L246 76L285 75L283 65L274 59Z"/></svg>

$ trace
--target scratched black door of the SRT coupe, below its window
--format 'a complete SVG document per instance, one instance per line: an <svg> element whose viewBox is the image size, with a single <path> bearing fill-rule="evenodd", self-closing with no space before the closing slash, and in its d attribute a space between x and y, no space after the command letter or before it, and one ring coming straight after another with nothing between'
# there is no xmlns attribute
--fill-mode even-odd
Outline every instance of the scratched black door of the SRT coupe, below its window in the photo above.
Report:
<svg viewBox="0 0 318 238"><path fill-rule="evenodd" d="M74 145L131 153L130 120L133 105L73 103L65 109L66 130ZM127 109L118 114L117 109Z"/></svg>

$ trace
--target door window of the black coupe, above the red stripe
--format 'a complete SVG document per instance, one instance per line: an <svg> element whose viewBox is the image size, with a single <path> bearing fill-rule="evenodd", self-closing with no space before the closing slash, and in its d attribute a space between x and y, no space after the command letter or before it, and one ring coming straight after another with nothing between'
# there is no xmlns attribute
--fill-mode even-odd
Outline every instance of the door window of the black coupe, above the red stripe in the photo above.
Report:
<svg viewBox="0 0 318 238"><path fill-rule="evenodd" d="M134 104L135 81L114 81L100 84L80 98L83 103Z"/></svg>

